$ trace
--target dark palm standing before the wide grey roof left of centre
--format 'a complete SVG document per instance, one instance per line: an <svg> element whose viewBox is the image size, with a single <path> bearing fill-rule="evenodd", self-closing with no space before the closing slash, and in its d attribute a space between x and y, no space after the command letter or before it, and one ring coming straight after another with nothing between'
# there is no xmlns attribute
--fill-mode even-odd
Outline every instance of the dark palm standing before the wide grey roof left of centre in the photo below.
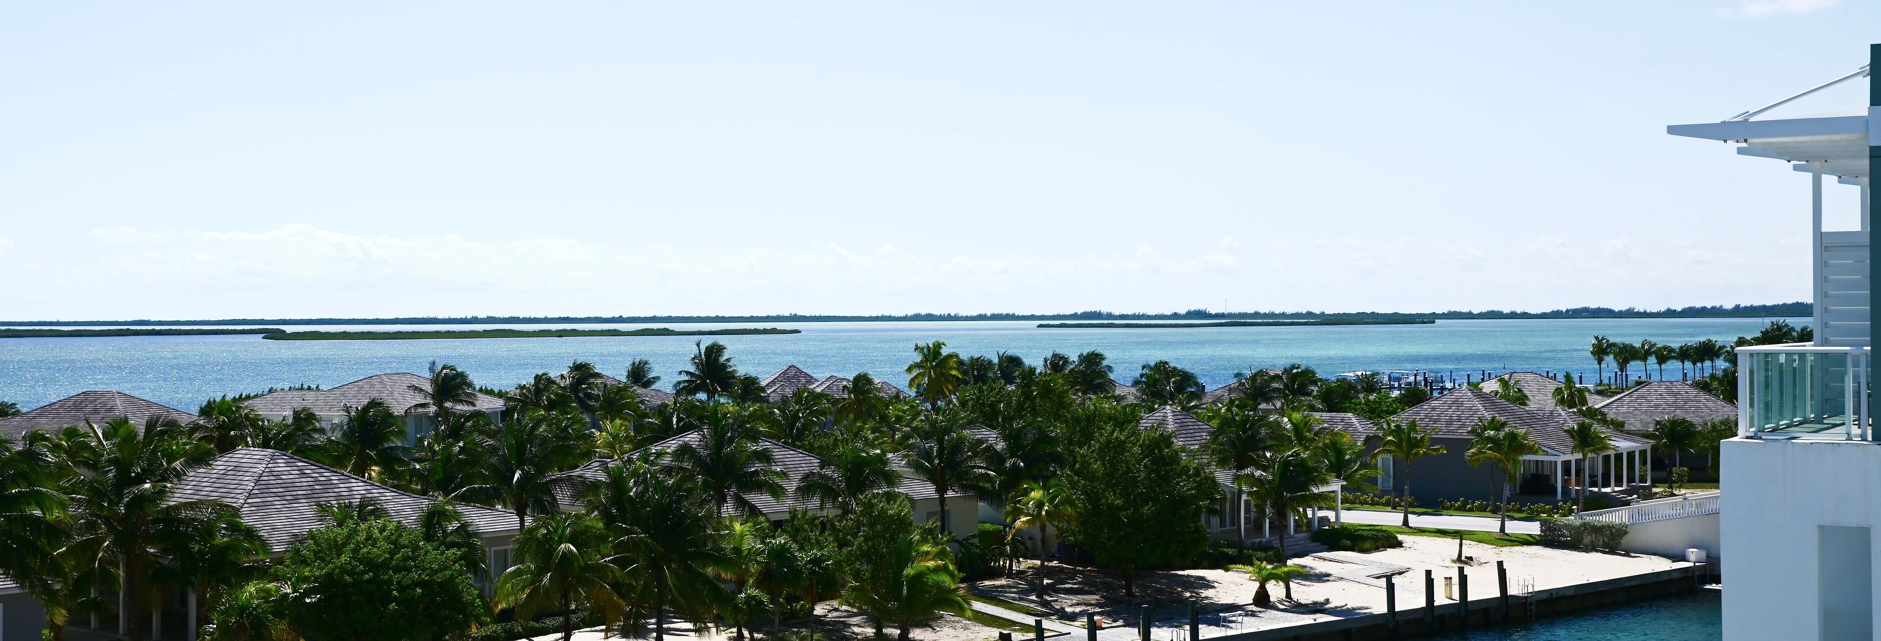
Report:
<svg viewBox="0 0 1881 641"><path fill-rule="evenodd" d="M709 408L694 430L698 438L673 449L673 464L698 476L720 517L724 508L739 515L760 513L747 494L784 494L784 474L773 466L771 451L758 447L758 430L743 414L737 406Z"/></svg>

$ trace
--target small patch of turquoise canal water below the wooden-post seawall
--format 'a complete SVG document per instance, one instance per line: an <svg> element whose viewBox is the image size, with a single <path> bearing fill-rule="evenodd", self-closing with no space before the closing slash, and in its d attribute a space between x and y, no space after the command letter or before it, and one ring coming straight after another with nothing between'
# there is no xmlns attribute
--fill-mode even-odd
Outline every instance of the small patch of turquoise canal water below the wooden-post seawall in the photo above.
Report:
<svg viewBox="0 0 1881 641"><path fill-rule="evenodd" d="M1717 641L1723 637L1723 609L1715 590L1693 596L1606 607L1527 626L1441 633L1424 639L1471 641Z"/></svg>

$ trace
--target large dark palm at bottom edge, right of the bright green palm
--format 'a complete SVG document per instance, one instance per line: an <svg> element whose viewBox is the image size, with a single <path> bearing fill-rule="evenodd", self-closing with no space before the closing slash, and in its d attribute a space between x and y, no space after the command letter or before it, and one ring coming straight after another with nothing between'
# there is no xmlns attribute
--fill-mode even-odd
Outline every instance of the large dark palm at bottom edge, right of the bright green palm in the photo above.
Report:
<svg viewBox="0 0 1881 641"><path fill-rule="evenodd" d="M724 600L707 568L724 564L713 543L717 506L690 474L673 474L655 455L621 461L583 491L583 502L608 528L615 556L653 598L653 639L666 639L668 607L703 620Z"/></svg>

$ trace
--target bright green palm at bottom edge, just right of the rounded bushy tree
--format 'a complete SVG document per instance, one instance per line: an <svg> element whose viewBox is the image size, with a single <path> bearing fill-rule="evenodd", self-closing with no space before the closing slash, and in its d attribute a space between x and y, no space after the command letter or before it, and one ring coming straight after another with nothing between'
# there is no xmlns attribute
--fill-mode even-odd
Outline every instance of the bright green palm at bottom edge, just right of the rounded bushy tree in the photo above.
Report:
<svg viewBox="0 0 1881 641"><path fill-rule="evenodd" d="M532 620L542 609L562 613L562 641L576 633L576 605L593 607L606 620L619 620L626 602L613 592L624 579L608 564L608 532L585 513L547 513L515 536L515 558L497 579L497 607L515 607L517 620Z"/></svg>

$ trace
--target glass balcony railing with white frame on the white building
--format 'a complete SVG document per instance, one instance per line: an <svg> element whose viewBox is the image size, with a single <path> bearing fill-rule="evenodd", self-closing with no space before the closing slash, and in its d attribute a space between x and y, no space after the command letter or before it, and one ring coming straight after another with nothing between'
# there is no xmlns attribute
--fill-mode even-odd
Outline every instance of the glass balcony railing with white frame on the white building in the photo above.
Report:
<svg viewBox="0 0 1881 641"><path fill-rule="evenodd" d="M1868 348L1738 348L1738 434L1873 440L1868 359Z"/></svg>

